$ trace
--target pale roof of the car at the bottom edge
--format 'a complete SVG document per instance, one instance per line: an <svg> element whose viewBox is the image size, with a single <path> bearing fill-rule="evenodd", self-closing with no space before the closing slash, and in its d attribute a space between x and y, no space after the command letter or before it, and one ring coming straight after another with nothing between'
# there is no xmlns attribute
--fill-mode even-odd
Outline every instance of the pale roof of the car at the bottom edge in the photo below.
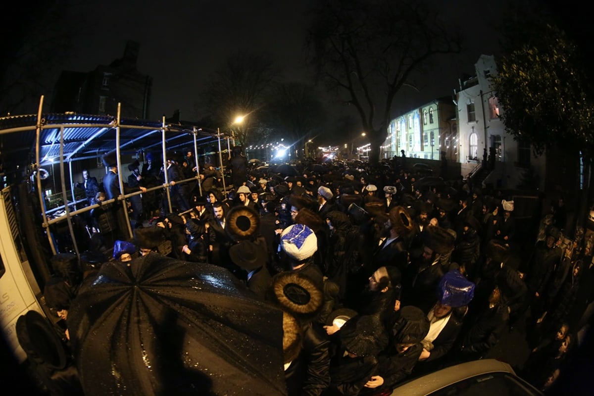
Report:
<svg viewBox="0 0 594 396"><path fill-rule="evenodd" d="M473 362L460 363L445 369L437 370L419 378L412 379L394 388L392 395L421 396L435 392L447 385L492 372L505 372L516 375L514 370L505 362L496 359L482 359Z"/></svg>

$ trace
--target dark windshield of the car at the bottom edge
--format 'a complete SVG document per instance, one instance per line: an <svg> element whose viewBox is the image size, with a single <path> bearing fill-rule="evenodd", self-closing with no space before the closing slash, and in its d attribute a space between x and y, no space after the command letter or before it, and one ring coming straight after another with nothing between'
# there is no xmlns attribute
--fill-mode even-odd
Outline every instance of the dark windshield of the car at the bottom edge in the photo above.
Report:
<svg viewBox="0 0 594 396"><path fill-rule="evenodd" d="M487 373L448 385L431 396L536 396L536 389L508 373Z"/></svg>

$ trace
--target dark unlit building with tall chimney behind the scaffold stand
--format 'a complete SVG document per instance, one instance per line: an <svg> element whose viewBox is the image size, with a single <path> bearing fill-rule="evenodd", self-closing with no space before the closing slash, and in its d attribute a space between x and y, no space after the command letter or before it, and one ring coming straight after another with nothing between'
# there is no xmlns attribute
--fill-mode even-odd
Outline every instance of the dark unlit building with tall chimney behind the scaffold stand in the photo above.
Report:
<svg viewBox="0 0 594 396"><path fill-rule="evenodd" d="M52 112L116 115L149 119L153 80L137 68L140 44L129 41L124 56L91 72L62 71L55 85Z"/></svg>

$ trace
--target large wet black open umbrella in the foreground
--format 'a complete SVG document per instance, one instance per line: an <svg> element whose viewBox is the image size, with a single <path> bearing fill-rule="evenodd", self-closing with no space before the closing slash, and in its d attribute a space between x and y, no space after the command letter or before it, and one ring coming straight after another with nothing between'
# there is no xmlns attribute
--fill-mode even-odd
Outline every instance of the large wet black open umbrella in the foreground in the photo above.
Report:
<svg viewBox="0 0 594 396"><path fill-rule="evenodd" d="M286 395L282 312L214 265L105 264L68 327L85 396Z"/></svg>

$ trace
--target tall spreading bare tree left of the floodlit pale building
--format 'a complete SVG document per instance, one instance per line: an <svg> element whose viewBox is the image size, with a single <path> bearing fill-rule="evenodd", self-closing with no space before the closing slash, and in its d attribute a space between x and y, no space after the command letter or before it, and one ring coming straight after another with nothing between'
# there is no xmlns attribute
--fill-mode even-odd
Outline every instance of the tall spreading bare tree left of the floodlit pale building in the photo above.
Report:
<svg viewBox="0 0 594 396"><path fill-rule="evenodd" d="M312 12L317 75L356 109L378 161L394 96L432 58L459 52L459 35L419 0L321 0Z"/></svg>

